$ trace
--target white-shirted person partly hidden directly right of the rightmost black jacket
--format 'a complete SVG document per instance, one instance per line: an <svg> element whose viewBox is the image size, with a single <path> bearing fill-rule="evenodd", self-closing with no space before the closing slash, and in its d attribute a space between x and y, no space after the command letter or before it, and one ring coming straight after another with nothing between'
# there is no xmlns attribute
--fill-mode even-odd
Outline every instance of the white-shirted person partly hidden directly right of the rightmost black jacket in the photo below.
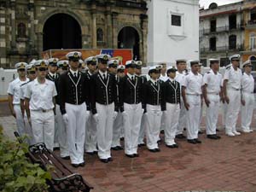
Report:
<svg viewBox="0 0 256 192"><path fill-rule="evenodd" d="M175 80L180 84L180 90L182 90L181 86L183 83L183 78L185 77L185 68L187 65L186 62L187 61L184 59L176 60L177 72L176 72ZM185 125L186 125L186 108L184 107L182 97L180 100L180 108L181 109L178 117L176 138L183 139L183 138L186 138L183 136L183 129L185 128Z"/></svg>

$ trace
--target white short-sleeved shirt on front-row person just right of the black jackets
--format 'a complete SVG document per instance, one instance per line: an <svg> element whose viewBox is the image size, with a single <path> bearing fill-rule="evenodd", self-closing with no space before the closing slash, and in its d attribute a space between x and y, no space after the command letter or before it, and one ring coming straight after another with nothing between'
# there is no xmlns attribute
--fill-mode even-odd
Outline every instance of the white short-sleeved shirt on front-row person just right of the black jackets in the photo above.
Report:
<svg viewBox="0 0 256 192"><path fill-rule="evenodd" d="M182 85L186 87L186 94L201 95L201 86L203 85L202 75L191 72L185 75Z"/></svg>

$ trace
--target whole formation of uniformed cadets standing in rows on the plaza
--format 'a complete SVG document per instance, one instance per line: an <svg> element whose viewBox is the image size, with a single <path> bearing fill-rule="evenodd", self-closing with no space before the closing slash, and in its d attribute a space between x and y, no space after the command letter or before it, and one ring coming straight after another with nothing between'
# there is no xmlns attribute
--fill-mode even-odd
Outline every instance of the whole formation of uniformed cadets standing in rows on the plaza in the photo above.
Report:
<svg viewBox="0 0 256 192"><path fill-rule="evenodd" d="M142 61L122 65L110 55L82 61L78 51L66 57L17 63L18 78L8 89L9 108L20 135L29 136L27 143L60 148L61 158L74 167L84 166L86 155L97 154L103 163L113 161L111 150L123 150L127 158L137 158L142 146L160 152L162 131L167 148L178 148L182 139L200 144L203 105L207 138L220 139L221 103L227 136L241 135L236 130L240 111L241 131L252 132L252 64L245 61L240 69L240 55L230 56L224 76L218 73L217 59L209 60L210 70L204 75L199 61L183 59L175 67L149 67L144 75Z"/></svg>

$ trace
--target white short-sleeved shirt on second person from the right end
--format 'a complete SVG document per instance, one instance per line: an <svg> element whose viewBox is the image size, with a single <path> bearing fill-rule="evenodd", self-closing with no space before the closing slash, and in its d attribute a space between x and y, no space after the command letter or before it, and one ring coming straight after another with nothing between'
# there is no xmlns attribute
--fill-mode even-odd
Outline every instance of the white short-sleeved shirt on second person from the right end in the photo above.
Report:
<svg viewBox="0 0 256 192"><path fill-rule="evenodd" d="M227 88L228 89L241 89L241 69L237 68L234 69L233 66L231 66L229 69L227 69L224 73L224 80L228 80L227 82Z"/></svg>

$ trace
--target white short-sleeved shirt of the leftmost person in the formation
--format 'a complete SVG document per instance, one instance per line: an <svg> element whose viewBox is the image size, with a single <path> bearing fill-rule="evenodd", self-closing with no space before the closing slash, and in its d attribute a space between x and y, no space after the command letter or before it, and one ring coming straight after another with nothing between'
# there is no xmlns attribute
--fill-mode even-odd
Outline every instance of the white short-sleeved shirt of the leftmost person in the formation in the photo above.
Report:
<svg viewBox="0 0 256 192"><path fill-rule="evenodd" d="M20 85L25 84L29 79L26 81L21 81L20 78L16 78L11 83L9 83L9 88L7 93L14 97L13 104L20 104Z"/></svg>

